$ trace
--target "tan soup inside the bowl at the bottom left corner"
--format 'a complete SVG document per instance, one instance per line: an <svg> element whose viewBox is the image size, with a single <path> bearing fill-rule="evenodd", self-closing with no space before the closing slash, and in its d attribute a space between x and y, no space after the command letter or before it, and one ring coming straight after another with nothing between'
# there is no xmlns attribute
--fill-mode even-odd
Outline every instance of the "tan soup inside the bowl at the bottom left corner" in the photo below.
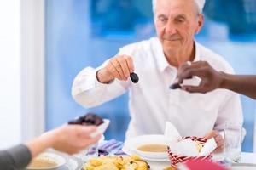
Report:
<svg viewBox="0 0 256 170"><path fill-rule="evenodd" d="M27 168L50 168L56 166L58 166L58 164L55 161L49 159L35 158L31 161Z"/></svg>

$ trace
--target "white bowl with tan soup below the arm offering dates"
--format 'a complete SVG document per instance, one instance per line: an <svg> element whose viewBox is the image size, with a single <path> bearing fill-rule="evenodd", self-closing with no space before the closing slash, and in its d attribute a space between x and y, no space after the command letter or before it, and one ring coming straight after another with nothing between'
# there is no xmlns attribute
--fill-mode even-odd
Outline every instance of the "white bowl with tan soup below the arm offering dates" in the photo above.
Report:
<svg viewBox="0 0 256 170"><path fill-rule="evenodd" d="M26 167L28 170L55 170L59 167L62 167L66 164L67 158L56 153L44 152L29 163Z"/></svg>

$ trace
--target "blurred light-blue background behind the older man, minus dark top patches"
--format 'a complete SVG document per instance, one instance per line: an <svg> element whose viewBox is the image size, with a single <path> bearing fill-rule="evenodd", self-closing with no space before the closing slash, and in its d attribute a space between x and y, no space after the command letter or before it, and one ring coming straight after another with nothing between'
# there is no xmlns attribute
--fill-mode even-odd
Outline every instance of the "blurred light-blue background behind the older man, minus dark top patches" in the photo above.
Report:
<svg viewBox="0 0 256 170"><path fill-rule="evenodd" d="M131 0L122 1L131 2ZM106 3L107 0L97 2ZM101 65L125 44L146 39L154 34L154 26L152 23L148 24L150 20L147 18L148 14L151 14L151 0L143 0L143 3L149 12L146 13L145 20L138 20L130 31L122 29L102 31L99 19L97 22L91 20L90 0L46 1L47 130L60 126L75 116L95 111L112 121L106 133L107 139L124 139L130 119L127 94L88 110L74 102L71 87L73 78L85 66ZM211 5L209 4L208 7L212 7ZM207 10L207 13L211 14L211 10ZM256 74L256 38L253 37L252 32L250 35L231 35L228 22L213 19L207 18L201 34L196 37L197 41L222 54L236 73ZM241 99L247 128L243 150L252 151L255 101L244 96Z"/></svg>

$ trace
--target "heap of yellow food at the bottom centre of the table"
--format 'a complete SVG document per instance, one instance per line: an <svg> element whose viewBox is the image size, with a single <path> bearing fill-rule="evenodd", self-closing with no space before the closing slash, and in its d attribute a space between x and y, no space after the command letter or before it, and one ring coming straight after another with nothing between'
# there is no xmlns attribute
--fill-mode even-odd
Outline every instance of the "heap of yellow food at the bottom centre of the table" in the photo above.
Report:
<svg viewBox="0 0 256 170"><path fill-rule="evenodd" d="M100 156L84 164L84 170L148 170L147 161L139 156Z"/></svg>

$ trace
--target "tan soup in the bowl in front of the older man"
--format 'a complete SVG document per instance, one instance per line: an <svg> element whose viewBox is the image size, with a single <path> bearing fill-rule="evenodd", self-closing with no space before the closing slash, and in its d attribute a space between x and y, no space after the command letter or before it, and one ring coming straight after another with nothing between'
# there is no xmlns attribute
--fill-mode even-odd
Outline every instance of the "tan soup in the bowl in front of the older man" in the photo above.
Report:
<svg viewBox="0 0 256 170"><path fill-rule="evenodd" d="M166 152L167 149L166 144L143 144L137 147L137 150L148 152Z"/></svg>

